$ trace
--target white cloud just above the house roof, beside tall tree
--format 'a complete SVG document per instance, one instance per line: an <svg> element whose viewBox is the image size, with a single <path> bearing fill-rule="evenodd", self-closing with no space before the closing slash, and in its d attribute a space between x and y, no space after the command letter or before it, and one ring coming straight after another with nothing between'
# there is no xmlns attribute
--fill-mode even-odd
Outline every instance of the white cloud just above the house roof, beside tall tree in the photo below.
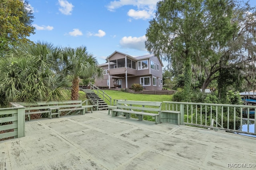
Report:
<svg viewBox="0 0 256 170"><path fill-rule="evenodd" d="M122 37L120 45L123 48L136 49L140 51L146 51L145 49L146 36L142 37Z"/></svg>

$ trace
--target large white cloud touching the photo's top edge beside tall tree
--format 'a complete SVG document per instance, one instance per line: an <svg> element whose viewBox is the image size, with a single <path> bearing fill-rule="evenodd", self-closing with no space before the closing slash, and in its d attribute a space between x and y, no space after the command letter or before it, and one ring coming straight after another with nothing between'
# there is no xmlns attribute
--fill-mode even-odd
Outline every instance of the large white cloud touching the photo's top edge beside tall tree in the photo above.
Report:
<svg viewBox="0 0 256 170"><path fill-rule="evenodd" d="M109 11L113 12L117 8L121 8L122 6L132 5L136 7L136 10L130 9L127 12L128 16L136 20L149 19L154 17L154 12L156 10L156 3L158 1L159 0L114 0L108 4L107 8Z"/></svg>

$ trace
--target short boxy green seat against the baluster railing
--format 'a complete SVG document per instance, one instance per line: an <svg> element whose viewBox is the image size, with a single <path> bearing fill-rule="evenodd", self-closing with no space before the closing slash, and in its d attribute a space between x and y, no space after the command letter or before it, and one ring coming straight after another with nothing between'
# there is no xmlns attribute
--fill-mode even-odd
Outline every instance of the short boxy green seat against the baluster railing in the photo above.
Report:
<svg viewBox="0 0 256 170"><path fill-rule="evenodd" d="M174 104L166 101L162 102L162 104L165 105L165 110L161 110L160 122L180 125L180 111L178 111L178 105L175 105L175 107Z"/></svg>

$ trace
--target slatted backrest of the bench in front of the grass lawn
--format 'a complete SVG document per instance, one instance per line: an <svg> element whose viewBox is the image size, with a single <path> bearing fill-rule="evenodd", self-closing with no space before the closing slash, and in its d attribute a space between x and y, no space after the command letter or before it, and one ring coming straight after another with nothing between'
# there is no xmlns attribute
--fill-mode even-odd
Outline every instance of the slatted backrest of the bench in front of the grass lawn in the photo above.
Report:
<svg viewBox="0 0 256 170"><path fill-rule="evenodd" d="M131 100L118 100L117 108L134 110L134 111L149 111L160 112L162 102L147 102L147 101L131 101Z"/></svg>

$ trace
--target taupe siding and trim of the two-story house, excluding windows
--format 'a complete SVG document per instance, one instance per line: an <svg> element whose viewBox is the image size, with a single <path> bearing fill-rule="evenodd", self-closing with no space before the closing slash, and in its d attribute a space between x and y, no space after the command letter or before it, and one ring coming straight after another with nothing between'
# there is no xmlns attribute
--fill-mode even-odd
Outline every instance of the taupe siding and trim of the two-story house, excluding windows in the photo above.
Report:
<svg viewBox="0 0 256 170"><path fill-rule="evenodd" d="M130 59L136 62L136 69L129 67L120 67L120 68L111 68L109 69L109 74L105 74L103 79L97 79L95 81L95 85L99 87L108 88L107 82L110 83L110 88L126 88L126 73L127 73L127 87L131 88L132 84L138 83L140 84L141 78L148 77L150 79L150 86L143 86L145 90L162 90L162 67L163 64L158 57L154 55L145 55L139 57L132 57L130 55L126 55L124 53L120 53L115 51L110 55L107 60L109 62L118 60L118 59ZM148 68L138 70L138 61L148 60ZM152 69L150 65L150 61L154 61L156 63L156 69ZM125 65L125 64L124 64ZM157 70L157 65L159 66L159 70ZM108 63L100 64L104 70L108 70ZM153 78L156 80L156 86L153 85ZM109 80L108 80L109 79ZM121 86L117 86L119 82L122 81Z"/></svg>

